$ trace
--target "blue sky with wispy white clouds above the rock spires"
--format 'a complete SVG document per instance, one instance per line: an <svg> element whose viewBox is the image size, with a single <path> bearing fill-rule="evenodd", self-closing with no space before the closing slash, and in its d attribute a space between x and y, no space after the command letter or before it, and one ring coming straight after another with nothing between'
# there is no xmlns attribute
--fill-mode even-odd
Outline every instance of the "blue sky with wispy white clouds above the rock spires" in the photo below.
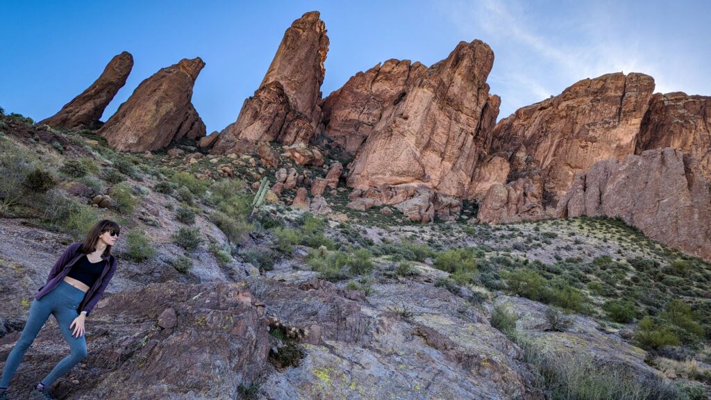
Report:
<svg viewBox="0 0 711 400"><path fill-rule="evenodd" d="M112 56L134 68L107 120L137 85L200 56L193 104L208 133L234 122L284 30L321 11L331 46L324 97L388 58L425 65L459 41L495 54L499 119L584 78L641 72L656 91L711 95L711 1L14 1L2 0L0 107L41 120L87 88Z"/></svg>

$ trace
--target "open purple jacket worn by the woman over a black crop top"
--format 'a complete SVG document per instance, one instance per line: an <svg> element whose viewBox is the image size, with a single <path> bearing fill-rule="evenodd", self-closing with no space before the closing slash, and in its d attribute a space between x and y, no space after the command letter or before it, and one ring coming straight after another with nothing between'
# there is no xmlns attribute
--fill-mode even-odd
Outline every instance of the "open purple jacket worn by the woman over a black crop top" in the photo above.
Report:
<svg viewBox="0 0 711 400"><path fill-rule="evenodd" d="M37 300L40 300L43 295L46 295L54 290L54 288L59 285L64 277L67 276L72 265L84 256L84 253L79 251L81 246L82 243L75 242L70 244L64 251L59 260L57 260L54 264L52 270L50 270L49 276L47 277L47 283L38 289L38 293L35 295ZM77 307L77 312L86 311L87 316L96 303L99 302L102 295L104 295L104 290L106 290L106 287L109 285L109 281L114 276L114 271L116 271L117 262L114 256L105 256L102 254L101 258L106 261L104 270L99 276L99 279L96 280L94 285L84 295L84 299L80 302L79 307Z"/></svg>

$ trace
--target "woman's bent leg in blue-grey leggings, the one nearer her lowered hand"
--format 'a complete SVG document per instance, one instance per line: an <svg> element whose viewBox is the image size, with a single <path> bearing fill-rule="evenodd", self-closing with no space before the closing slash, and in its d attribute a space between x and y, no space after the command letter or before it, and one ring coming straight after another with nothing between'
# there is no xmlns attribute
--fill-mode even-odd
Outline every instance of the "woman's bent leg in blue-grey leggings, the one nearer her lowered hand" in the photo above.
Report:
<svg viewBox="0 0 711 400"><path fill-rule="evenodd" d="M78 364L87 355L85 335L74 337L72 336L74 327L69 327L69 325L72 325L74 319L79 316L77 306L79 305L81 298L75 302L70 299L67 300L68 301L61 302L55 306L54 317L57 319L59 330L62 332L64 340L66 340L69 344L71 352L67 357L64 357L60 362L58 362L54 369L52 369L52 371L50 371L50 373L42 379L42 383L46 387L53 384L57 378L72 369L72 367Z"/></svg>

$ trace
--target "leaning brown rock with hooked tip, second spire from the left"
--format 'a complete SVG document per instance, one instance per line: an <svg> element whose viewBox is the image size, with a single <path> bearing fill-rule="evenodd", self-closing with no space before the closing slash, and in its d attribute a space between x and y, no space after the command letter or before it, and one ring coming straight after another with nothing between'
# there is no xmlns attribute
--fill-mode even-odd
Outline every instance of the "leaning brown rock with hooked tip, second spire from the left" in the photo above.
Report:
<svg viewBox="0 0 711 400"><path fill-rule="evenodd" d="M204 137L205 124L191 102L204 66L197 57L162 68L141 82L97 133L122 152L157 150L183 137Z"/></svg>

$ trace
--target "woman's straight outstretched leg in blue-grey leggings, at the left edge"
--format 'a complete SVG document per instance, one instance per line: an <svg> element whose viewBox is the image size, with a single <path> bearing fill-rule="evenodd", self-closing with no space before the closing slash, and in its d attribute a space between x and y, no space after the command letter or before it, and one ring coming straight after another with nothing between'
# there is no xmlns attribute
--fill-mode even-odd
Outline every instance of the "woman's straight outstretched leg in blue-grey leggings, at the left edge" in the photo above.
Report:
<svg viewBox="0 0 711 400"><path fill-rule="evenodd" d="M34 342L35 337L37 337L38 332L43 327L47 318L52 312L52 298L50 294L43 296L40 300L32 300L30 305L30 314L27 317L27 323L22 330L22 335L17 341L12 351L7 356L5 361L5 367L2 370L2 378L0 378L0 387L7 387L10 384L10 379L17 371L22 357L27 352L30 344Z"/></svg>

